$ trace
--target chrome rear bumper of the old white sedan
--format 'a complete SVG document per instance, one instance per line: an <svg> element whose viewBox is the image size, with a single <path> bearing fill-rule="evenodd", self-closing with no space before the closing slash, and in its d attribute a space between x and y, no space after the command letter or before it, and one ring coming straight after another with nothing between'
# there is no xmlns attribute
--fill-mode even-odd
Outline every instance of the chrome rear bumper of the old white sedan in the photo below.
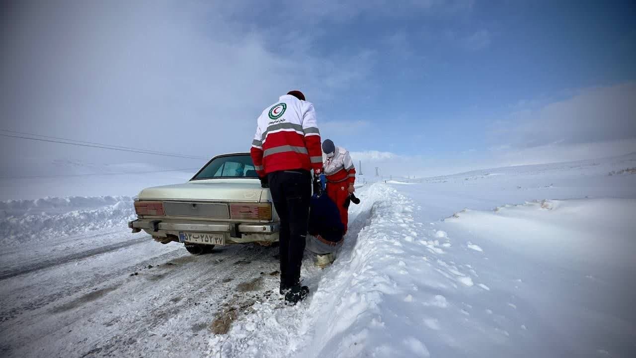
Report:
<svg viewBox="0 0 636 358"><path fill-rule="evenodd" d="M206 222L206 221L174 221L158 219L137 219L128 222L128 227L134 233L143 230L153 237L165 238L179 236L180 231L195 233L222 233L226 241L235 243L256 241L277 241L280 224L271 222L237 223L237 222Z"/></svg>

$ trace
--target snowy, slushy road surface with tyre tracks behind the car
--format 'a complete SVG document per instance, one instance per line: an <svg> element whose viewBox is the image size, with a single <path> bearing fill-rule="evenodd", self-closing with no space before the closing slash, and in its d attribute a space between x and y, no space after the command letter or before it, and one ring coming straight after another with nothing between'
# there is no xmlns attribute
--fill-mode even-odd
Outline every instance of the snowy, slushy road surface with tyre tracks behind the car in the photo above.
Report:
<svg viewBox="0 0 636 358"><path fill-rule="evenodd" d="M5 268L3 356L200 357L223 304L245 305L277 286L275 248L193 256L125 231L108 233L116 243Z"/></svg>

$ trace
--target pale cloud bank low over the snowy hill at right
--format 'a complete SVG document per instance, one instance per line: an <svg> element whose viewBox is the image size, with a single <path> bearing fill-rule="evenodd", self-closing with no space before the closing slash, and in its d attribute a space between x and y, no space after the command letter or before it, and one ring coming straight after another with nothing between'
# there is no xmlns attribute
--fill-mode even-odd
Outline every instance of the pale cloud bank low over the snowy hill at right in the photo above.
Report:
<svg viewBox="0 0 636 358"><path fill-rule="evenodd" d="M490 131L485 150L434 156L359 156L385 175L430 176L502 166L600 159L636 152L636 83L578 91L561 101L529 102ZM353 155L353 154L352 154Z"/></svg>

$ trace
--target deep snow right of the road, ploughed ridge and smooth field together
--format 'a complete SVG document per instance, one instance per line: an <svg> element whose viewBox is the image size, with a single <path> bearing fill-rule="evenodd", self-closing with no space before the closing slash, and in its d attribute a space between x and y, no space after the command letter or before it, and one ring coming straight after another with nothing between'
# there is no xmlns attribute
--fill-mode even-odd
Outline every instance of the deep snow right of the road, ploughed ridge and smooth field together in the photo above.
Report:
<svg viewBox="0 0 636 358"><path fill-rule="evenodd" d="M304 283L312 291L307 301L294 308L255 304L228 334L211 338L209 353L597 357L628 352L636 337L636 317L628 313L635 296L628 287L636 275L636 223L630 219L635 198L541 200L462 210L429 222L424 219L448 208L427 203L420 185L361 188L363 202L351 207L350 232L333 266L321 271L311 259L303 263ZM536 188L525 195L546 193ZM483 207L492 202L489 195L476 190L469 199ZM452 206L459 200L449 197Z"/></svg>

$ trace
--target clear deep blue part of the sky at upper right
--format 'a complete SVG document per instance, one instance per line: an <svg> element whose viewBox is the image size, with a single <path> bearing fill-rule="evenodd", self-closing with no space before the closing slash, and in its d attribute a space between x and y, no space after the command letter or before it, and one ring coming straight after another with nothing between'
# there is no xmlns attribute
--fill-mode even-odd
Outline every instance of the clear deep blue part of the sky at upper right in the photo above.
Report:
<svg viewBox="0 0 636 358"><path fill-rule="evenodd" d="M349 147L410 154L485 149L486 132L519 106L541 106L636 74L633 4L488 1L323 17L296 28L322 55L369 52L344 96L319 106L327 120L369 122ZM268 31L272 12L248 17ZM317 32L316 36L312 33ZM459 130L458 130L459 129ZM378 143L381 139L384 143Z"/></svg>

